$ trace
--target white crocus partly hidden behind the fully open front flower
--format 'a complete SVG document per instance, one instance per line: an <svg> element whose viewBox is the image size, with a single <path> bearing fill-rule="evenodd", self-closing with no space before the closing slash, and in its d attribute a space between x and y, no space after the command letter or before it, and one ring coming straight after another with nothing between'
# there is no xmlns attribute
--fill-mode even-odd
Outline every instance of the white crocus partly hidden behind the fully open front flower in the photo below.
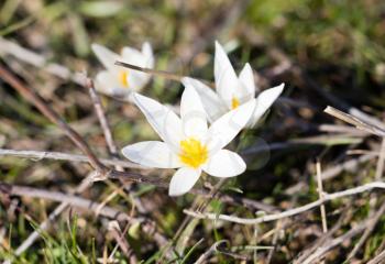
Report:
<svg viewBox="0 0 385 264"><path fill-rule="evenodd" d="M190 77L182 79L184 85L191 85L197 89L210 122L255 98L255 91L258 90L255 87L250 64L248 63L240 75L237 76L228 55L218 42L216 42L215 80L216 91L197 79ZM283 89L284 84L260 92L256 98L256 108L246 124L248 128L252 128L257 123Z"/></svg>

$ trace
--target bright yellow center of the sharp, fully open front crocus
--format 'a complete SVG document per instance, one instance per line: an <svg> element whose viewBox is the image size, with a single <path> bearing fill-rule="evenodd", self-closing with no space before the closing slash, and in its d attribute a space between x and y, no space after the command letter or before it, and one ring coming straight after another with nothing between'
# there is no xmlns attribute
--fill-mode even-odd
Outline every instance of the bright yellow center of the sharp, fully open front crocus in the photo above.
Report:
<svg viewBox="0 0 385 264"><path fill-rule="evenodd" d="M207 158L207 146L201 144L200 141L194 138L180 141L180 162L190 167L197 168L199 165L204 164Z"/></svg>

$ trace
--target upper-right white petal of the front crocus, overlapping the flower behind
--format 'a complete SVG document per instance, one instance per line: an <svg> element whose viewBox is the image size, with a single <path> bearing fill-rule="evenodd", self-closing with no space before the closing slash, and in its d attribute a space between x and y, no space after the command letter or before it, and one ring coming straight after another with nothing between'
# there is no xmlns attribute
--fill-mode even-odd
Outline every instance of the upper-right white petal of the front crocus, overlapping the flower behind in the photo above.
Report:
<svg viewBox="0 0 385 264"><path fill-rule="evenodd" d="M215 154L229 144L250 120L255 99L229 111L211 124L208 132L208 150Z"/></svg>

